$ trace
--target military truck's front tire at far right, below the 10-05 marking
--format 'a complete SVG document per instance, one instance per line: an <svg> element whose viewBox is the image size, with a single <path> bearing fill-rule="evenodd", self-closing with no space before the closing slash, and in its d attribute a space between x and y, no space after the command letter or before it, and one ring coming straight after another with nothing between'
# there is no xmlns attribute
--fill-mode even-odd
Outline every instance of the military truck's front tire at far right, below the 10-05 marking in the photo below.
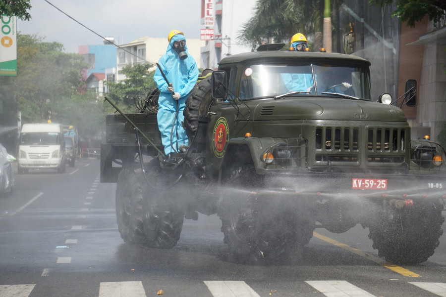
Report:
<svg viewBox="0 0 446 297"><path fill-rule="evenodd" d="M395 264L426 261L440 244L445 220L442 209L442 205L418 201L411 208L382 212L384 216L369 227L373 248Z"/></svg>

